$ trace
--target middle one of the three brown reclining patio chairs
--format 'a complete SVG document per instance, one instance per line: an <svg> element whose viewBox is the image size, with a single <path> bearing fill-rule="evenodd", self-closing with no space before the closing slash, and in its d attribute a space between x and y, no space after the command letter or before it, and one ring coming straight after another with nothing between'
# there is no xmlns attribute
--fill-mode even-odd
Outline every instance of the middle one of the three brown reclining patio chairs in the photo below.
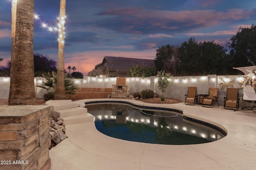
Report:
<svg viewBox="0 0 256 170"><path fill-rule="evenodd" d="M218 104L217 107L219 107L219 103L218 103L218 91L219 91L219 88L217 87L210 87L209 88L209 94L208 96L204 96L204 100L202 102L202 106L206 106L206 107L214 107L216 102Z"/></svg>

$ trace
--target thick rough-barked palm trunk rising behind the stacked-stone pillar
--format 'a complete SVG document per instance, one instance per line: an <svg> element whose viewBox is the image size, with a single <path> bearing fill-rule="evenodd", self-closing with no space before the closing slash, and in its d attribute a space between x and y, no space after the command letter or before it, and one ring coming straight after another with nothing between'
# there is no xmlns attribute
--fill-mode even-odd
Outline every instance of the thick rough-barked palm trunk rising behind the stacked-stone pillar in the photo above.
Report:
<svg viewBox="0 0 256 170"><path fill-rule="evenodd" d="M16 2L12 2L9 105L34 105L34 0Z"/></svg>

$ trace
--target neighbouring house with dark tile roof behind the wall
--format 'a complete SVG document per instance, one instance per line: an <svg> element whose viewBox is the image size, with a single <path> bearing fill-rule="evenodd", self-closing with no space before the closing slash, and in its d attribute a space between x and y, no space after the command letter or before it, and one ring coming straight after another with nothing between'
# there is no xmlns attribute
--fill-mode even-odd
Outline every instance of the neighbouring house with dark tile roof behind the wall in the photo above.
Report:
<svg viewBox="0 0 256 170"><path fill-rule="evenodd" d="M106 76L106 77L127 77L127 71L134 65L144 64L148 67L155 67L154 60L134 59L125 57L104 57L102 63L88 72L88 76Z"/></svg>

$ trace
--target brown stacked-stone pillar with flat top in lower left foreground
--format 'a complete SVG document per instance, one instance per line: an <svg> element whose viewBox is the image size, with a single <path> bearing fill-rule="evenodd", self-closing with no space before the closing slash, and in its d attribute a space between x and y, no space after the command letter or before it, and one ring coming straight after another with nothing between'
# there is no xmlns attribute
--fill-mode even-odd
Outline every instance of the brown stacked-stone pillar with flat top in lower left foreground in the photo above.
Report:
<svg viewBox="0 0 256 170"><path fill-rule="evenodd" d="M50 106L0 106L0 169L48 170Z"/></svg>

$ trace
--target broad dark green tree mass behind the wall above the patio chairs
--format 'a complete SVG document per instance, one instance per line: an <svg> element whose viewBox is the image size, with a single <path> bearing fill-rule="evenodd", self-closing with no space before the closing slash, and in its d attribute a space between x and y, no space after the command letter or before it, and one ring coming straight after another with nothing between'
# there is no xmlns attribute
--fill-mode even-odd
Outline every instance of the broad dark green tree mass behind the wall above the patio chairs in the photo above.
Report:
<svg viewBox="0 0 256 170"><path fill-rule="evenodd" d="M194 38L182 43L179 48L178 75L199 76L207 74L226 74L231 67L224 47L214 41L198 43Z"/></svg>

